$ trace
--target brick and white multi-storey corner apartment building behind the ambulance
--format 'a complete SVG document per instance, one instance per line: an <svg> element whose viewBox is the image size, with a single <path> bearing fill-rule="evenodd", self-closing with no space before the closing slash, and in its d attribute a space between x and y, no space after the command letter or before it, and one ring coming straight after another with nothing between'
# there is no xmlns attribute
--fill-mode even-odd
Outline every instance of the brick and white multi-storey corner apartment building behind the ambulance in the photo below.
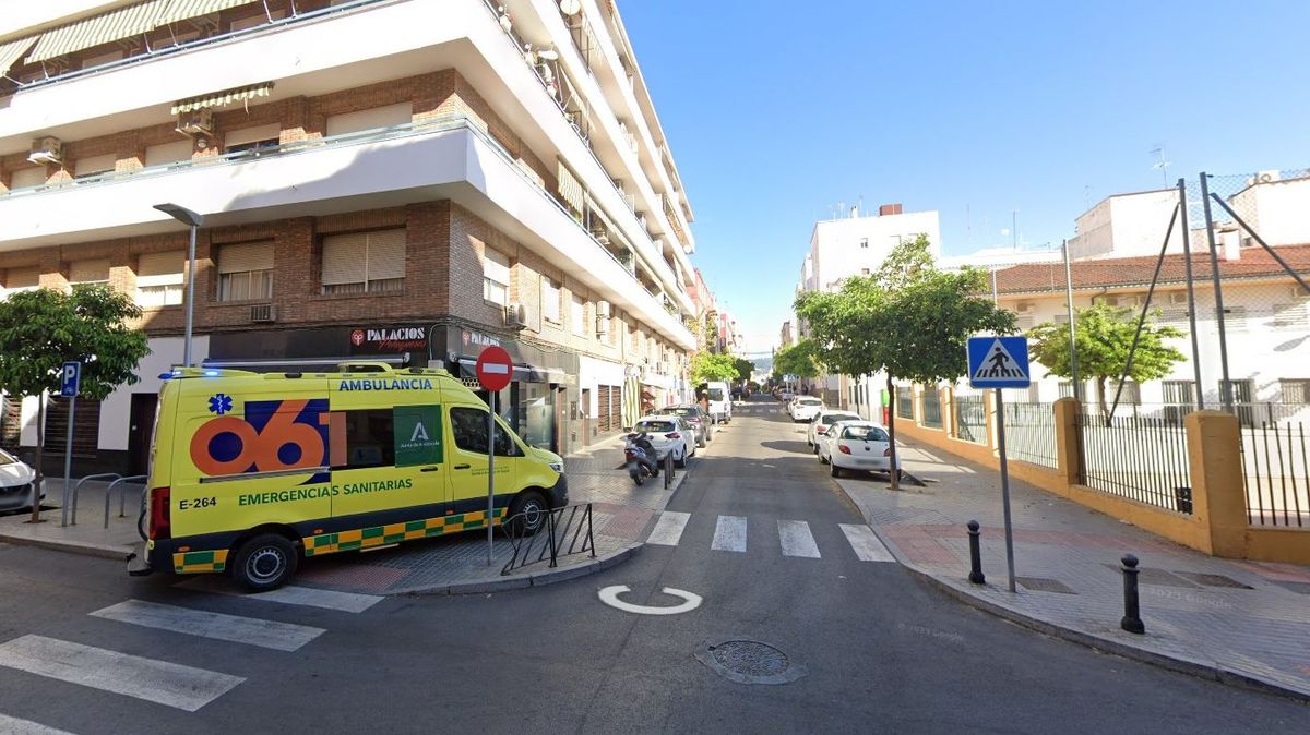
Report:
<svg viewBox="0 0 1310 735"><path fill-rule="evenodd" d="M472 379L499 344L506 419L559 453L686 396L693 212L614 3L58 8L0 26L0 296L109 284L152 349L79 403L79 473L144 467L187 277L207 365ZM162 203L204 218L194 273Z"/></svg>

